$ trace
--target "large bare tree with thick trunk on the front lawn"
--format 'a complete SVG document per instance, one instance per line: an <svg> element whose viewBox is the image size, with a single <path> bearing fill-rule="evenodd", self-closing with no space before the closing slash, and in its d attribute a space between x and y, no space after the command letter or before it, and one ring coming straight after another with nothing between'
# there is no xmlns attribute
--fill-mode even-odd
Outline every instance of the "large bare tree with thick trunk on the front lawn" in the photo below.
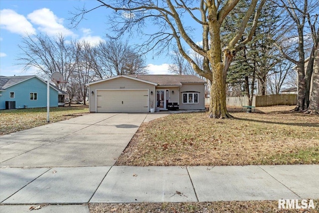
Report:
<svg viewBox="0 0 319 213"><path fill-rule="evenodd" d="M226 74L233 57L253 37L257 27L261 8L266 0L251 0L249 8L242 19L241 26L235 35L230 38L225 48L221 47L221 24L229 12L238 4L239 0L98 0L99 7L112 9L112 29L118 35L124 32L140 32L146 37L141 48L147 51L161 52L164 48L176 42L180 54L191 64L193 70L211 82L210 88L210 116L211 118L230 118L226 109ZM84 14L93 9L83 9L74 16L83 18ZM183 17L192 18L191 24L184 22ZM253 17L252 25L245 39L240 38L245 33L247 23ZM147 24L153 24L157 31L149 32ZM187 25L188 24L188 25ZM191 38L191 33L197 24L196 33L200 29L202 47ZM183 48L185 42L193 51L203 56L202 66L199 66ZM222 58L223 54L223 58ZM202 68L200 68L202 67Z"/></svg>

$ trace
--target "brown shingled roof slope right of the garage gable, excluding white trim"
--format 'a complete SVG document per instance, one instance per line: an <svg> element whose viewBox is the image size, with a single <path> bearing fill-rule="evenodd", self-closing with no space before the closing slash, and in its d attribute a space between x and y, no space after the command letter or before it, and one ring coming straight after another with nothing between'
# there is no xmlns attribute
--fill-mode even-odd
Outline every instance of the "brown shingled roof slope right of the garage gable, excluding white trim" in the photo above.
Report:
<svg viewBox="0 0 319 213"><path fill-rule="evenodd" d="M128 75L144 81L157 83L159 86L181 86L185 83L206 83L196 75Z"/></svg>

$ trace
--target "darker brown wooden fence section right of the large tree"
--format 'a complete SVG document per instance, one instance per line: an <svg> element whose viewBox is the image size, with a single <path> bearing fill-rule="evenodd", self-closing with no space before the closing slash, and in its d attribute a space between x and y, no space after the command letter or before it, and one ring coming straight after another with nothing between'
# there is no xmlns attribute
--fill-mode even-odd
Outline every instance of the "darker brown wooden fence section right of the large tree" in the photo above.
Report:
<svg viewBox="0 0 319 213"><path fill-rule="evenodd" d="M278 94L256 96L256 107L276 105L296 105L297 94Z"/></svg>

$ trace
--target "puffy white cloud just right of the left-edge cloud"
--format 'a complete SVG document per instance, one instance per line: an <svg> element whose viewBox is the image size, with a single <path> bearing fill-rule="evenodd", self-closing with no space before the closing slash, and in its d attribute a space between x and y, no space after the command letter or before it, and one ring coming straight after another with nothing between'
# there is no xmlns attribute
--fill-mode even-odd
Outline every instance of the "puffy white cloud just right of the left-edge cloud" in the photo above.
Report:
<svg viewBox="0 0 319 213"><path fill-rule="evenodd" d="M58 18L50 9L41 8L34 10L27 15L27 18L33 24L39 25L38 30L48 35L63 34L65 36L74 35L74 33L63 26L63 18Z"/></svg>

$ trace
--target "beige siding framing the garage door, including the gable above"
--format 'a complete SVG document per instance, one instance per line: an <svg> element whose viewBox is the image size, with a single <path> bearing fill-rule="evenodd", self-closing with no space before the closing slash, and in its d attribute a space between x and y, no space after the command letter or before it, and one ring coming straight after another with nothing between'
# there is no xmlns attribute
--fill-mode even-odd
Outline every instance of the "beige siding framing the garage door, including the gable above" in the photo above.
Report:
<svg viewBox="0 0 319 213"><path fill-rule="evenodd" d="M148 89L149 90L149 106L155 107L155 85L144 83L141 81L119 77L103 82L90 85L89 108L90 112L96 112L96 94L97 90L132 90L132 89ZM91 95L91 91L94 95ZM153 95L151 92L153 91Z"/></svg>

